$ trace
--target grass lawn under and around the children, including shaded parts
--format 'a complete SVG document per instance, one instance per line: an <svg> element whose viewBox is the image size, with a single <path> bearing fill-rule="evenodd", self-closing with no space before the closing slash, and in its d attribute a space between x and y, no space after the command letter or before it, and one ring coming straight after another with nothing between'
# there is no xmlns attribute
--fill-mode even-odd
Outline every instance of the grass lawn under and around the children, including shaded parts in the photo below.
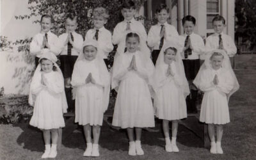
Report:
<svg viewBox="0 0 256 160"><path fill-rule="evenodd" d="M230 120L225 125L222 147L224 154L210 154L202 140L183 125L179 126L179 153L164 151L164 138L159 132L143 131L144 156L128 156L124 130L110 129L105 122L100 136L100 157L91 159L255 159L256 157L256 56L237 56L236 75L240 90L230 99ZM85 140L81 128L63 140L56 159L90 159L83 157ZM42 132L29 124L0 124L0 159L40 159L44 152ZM254 157L254 158L253 158Z"/></svg>

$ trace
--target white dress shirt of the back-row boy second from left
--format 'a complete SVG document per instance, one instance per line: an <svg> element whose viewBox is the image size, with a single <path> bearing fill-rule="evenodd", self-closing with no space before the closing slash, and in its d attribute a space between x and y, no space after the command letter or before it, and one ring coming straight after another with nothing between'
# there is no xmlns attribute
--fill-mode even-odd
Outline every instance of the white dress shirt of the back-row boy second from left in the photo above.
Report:
<svg viewBox="0 0 256 160"><path fill-rule="evenodd" d="M78 56L79 52L83 49L83 36L76 33L75 31L72 32L72 36L74 37L72 49L71 49L71 55L72 56ZM61 47L61 54L60 55L67 55L68 54L68 45L65 44L68 37L68 33L63 33L59 36L60 40L60 47Z"/></svg>

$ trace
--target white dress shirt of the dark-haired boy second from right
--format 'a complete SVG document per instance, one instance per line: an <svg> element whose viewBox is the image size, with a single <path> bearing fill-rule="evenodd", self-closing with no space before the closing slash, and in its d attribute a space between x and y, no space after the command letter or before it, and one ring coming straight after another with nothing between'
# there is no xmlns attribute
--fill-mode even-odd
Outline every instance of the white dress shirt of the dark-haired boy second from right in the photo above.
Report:
<svg viewBox="0 0 256 160"><path fill-rule="evenodd" d="M182 45L185 45L185 40L187 38L188 35L181 35L180 39L182 42ZM204 46L204 40L200 35L197 35L195 33L191 33L191 35L189 35L190 41L191 41L191 45L193 47L192 50L192 54L188 55L188 58L182 58L185 60L197 60L197 59L202 59L204 60L204 54L205 54L205 46Z"/></svg>

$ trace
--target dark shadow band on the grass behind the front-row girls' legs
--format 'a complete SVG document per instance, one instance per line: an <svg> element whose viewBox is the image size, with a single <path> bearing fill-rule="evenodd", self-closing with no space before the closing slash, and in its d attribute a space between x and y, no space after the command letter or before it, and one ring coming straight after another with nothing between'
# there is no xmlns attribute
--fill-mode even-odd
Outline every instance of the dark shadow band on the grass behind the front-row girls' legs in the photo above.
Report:
<svg viewBox="0 0 256 160"><path fill-rule="evenodd" d="M170 128L171 126L172 125L170 123ZM13 127L20 127L20 129L23 131L17 138L17 143L19 145L31 151L44 152L44 139L40 129L37 129L28 123L13 124ZM143 129L141 143L142 145L158 146L164 150L165 142L161 120L156 118L156 127L154 129L156 130L154 132ZM196 136L188 128L184 127L184 125L179 125L177 142L180 145L196 148L202 147L203 144L202 139L198 138L198 136ZM84 150L86 147L86 141L84 138L83 126L79 125L79 127L72 132L72 134L70 134L65 140L62 140L62 144L67 148L79 148ZM100 132L99 145L100 147L111 151L128 151L129 141L127 138L126 129L112 129L104 121Z"/></svg>

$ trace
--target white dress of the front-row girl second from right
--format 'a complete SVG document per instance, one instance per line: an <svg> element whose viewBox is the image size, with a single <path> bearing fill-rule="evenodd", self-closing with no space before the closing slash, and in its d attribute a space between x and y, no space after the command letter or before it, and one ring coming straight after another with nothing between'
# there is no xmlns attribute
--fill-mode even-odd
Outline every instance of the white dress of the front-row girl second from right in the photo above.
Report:
<svg viewBox="0 0 256 160"><path fill-rule="evenodd" d="M182 81L177 73L175 61L172 61L171 68L174 76L166 76L168 65L163 63L155 74L157 79L161 79L156 89L154 97L154 107L156 116L164 120L180 120L187 117L186 100L182 92Z"/></svg>

